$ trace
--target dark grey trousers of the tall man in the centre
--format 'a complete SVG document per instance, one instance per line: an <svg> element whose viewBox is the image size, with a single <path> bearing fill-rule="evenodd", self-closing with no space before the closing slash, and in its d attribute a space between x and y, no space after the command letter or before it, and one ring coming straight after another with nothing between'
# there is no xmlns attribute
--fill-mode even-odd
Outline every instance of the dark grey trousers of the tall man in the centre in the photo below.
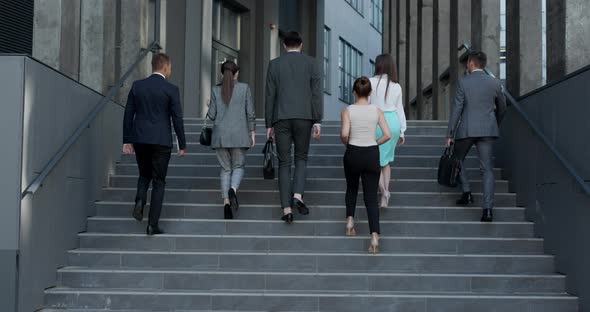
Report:
<svg viewBox="0 0 590 312"><path fill-rule="evenodd" d="M313 122L305 119L279 120L273 125L279 159L281 208L291 207L294 193L303 195L307 179L307 153ZM291 145L295 145L295 175L291 181Z"/></svg>

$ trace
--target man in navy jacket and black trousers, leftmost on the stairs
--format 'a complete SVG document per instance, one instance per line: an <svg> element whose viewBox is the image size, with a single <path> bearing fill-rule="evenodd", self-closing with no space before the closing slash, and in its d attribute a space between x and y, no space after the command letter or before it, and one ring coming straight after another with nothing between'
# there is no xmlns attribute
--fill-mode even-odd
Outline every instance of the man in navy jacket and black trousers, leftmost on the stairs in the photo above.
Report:
<svg viewBox="0 0 590 312"><path fill-rule="evenodd" d="M178 87L167 80L172 73L170 58L163 53L152 58L152 75L133 83L123 121L123 153L135 150L139 180L133 217L141 221L152 183L147 234L163 234L158 227L164 201L166 172L172 152L172 124L178 138L178 156L184 156L186 139Z"/></svg>

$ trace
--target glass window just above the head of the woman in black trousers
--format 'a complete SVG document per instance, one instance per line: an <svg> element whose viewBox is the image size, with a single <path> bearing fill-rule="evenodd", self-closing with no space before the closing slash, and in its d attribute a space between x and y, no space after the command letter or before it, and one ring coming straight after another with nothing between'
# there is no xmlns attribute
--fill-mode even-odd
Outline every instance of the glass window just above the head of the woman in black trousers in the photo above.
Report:
<svg viewBox="0 0 590 312"><path fill-rule="evenodd" d="M354 101L352 95L354 80L362 75L363 56L359 50L342 38L340 38L338 49L338 67L340 71L339 98L350 104Z"/></svg>

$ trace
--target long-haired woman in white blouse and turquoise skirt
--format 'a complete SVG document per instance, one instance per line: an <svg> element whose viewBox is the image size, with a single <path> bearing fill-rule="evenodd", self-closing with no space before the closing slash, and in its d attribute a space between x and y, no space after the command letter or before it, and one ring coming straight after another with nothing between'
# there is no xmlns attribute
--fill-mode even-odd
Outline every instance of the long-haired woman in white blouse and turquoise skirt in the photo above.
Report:
<svg viewBox="0 0 590 312"><path fill-rule="evenodd" d="M393 162L396 145L405 143L404 132L406 131L402 88L397 83L397 71L391 55L382 54L375 59L375 76L370 81L373 92L369 102L383 111L392 135L391 140L379 146L379 162L381 164L381 177L379 179L381 200L379 206L383 208L387 207L389 203L389 180L391 179L391 167L389 164ZM377 138L382 135L383 132L377 129Z"/></svg>

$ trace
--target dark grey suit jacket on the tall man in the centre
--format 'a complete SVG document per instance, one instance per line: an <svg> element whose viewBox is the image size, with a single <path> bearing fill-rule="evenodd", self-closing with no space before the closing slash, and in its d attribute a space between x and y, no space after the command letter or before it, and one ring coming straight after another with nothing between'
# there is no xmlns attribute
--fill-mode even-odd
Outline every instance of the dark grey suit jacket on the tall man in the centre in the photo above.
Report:
<svg viewBox="0 0 590 312"><path fill-rule="evenodd" d="M266 75L266 127L284 119L320 123L323 113L322 73L316 60L299 52L272 60Z"/></svg>

